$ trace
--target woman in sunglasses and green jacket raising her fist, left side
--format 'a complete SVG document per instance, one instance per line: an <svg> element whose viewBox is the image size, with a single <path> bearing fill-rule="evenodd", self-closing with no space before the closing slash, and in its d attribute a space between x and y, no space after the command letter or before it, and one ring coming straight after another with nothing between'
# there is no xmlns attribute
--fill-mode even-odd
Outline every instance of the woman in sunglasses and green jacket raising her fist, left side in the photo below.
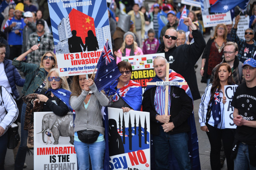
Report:
<svg viewBox="0 0 256 170"><path fill-rule="evenodd" d="M29 50L21 54L19 57L13 59L13 65L22 72L26 73L25 83L22 93L26 96L29 94L39 94L45 86L46 76L51 68L54 68L56 63L56 56L53 52L46 52L42 58L40 65L25 63L23 59L32 51L38 49L38 45L32 46ZM22 170L27 153L27 130L24 130L26 104L22 105L21 112L21 145L15 160L15 170Z"/></svg>

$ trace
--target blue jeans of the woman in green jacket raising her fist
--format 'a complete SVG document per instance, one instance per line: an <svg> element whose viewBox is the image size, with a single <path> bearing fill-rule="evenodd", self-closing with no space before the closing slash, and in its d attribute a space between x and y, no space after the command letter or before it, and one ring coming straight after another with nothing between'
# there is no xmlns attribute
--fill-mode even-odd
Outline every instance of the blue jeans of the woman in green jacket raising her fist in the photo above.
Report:
<svg viewBox="0 0 256 170"><path fill-rule="evenodd" d="M25 114L27 105L23 103L21 111L21 145L15 159L15 170L22 170L27 154L27 130L24 130Z"/></svg>

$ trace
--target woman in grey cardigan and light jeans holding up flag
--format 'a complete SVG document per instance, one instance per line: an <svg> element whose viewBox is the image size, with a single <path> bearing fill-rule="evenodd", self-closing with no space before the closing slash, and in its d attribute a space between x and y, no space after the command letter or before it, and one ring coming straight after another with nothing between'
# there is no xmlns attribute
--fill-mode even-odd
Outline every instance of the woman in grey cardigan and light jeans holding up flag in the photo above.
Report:
<svg viewBox="0 0 256 170"><path fill-rule="evenodd" d="M88 75L91 77L91 74ZM77 153L79 170L89 170L89 155L93 170L103 170L105 152L102 106L109 100L99 92L92 79L86 75L76 75L71 84L70 104L75 110L74 147Z"/></svg>

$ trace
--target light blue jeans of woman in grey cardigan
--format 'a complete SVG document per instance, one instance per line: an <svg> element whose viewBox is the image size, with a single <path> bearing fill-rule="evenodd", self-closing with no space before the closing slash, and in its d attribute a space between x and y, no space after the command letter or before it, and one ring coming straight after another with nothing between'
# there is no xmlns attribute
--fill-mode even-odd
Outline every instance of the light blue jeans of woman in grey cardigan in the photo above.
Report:
<svg viewBox="0 0 256 170"><path fill-rule="evenodd" d="M77 162L79 170L89 170L91 159L91 167L93 170L103 170L103 158L105 152L105 140L86 144L74 141L75 152L77 153Z"/></svg>

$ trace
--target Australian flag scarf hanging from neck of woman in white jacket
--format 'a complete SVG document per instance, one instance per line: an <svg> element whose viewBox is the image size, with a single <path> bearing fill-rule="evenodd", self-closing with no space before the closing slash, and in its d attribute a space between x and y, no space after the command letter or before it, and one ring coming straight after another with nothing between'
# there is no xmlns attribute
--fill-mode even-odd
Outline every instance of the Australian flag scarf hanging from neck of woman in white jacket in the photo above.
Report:
<svg viewBox="0 0 256 170"><path fill-rule="evenodd" d="M211 101L211 112L213 113L214 127L218 127L218 123L221 122L221 105L219 103L219 91L218 88L215 91L213 100Z"/></svg>

